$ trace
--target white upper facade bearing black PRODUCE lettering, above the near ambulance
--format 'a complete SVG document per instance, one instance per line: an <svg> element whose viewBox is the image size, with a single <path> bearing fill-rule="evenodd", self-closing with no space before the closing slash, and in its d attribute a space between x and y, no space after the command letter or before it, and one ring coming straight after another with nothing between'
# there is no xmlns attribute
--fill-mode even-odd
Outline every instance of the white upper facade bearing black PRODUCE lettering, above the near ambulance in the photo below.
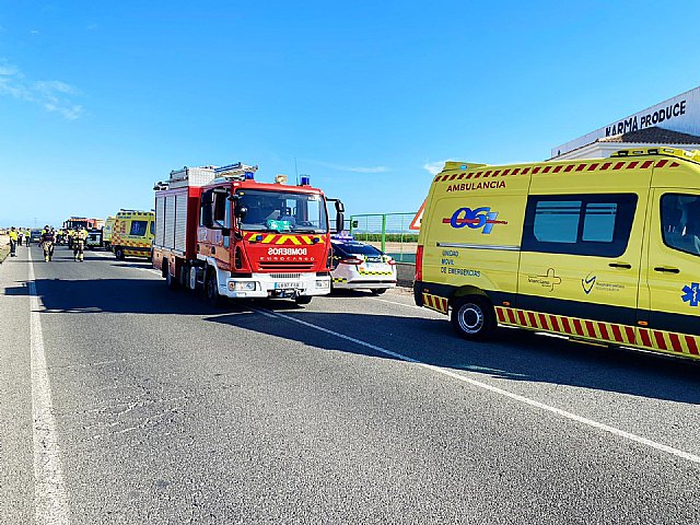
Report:
<svg viewBox="0 0 700 525"><path fill-rule="evenodd" d="M596 129L583 137L552 148L551 156L558 156L612 135L638 131L657 126L672 131L700 136L700 88L674 96L655 106Z"/></svg>

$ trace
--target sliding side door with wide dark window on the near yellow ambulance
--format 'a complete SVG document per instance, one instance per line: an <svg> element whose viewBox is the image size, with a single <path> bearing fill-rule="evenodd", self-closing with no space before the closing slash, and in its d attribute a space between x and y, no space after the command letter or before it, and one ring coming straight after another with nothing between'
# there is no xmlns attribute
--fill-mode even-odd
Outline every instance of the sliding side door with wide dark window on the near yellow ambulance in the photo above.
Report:
<svg viewBox="0 0 700 525"><path fill-rule="evenodd" d="M633 342L646 197L528 196L517 308L573 319L527 314L520 324Z"/></svg>

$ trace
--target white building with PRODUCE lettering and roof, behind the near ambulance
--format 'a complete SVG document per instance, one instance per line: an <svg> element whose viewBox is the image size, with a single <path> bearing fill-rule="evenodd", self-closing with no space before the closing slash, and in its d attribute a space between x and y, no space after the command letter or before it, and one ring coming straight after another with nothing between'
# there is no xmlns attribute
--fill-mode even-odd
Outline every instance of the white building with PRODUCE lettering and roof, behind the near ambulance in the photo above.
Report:
<svg viewBox="0 0 700 525"><path fill-rule="evenodd" d="M596 159L650 147L700 150L700 88L552 148L551 159Z"/></svg>

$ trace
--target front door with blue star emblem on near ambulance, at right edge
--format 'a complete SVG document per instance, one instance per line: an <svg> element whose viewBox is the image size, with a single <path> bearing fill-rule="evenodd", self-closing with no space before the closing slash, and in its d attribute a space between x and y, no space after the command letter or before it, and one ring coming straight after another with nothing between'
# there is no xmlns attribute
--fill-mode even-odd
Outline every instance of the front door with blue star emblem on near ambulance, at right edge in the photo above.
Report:
<svg viewBox="0 0 700 525"><path fill-rule="evenodd" d="M640 343L698 355L700 191L655 188L650 209Z"/></svg>

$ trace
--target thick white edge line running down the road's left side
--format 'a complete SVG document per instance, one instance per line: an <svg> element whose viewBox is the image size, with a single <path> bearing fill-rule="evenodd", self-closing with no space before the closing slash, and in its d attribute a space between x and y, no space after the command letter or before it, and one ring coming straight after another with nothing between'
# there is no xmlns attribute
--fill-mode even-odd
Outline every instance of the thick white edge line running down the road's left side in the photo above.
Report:
<svg viewBox="0 0 700 525"><path fill-rule="evenodd" d="M70 523L70 511L51 405L51 384L46 369L39 300L36 293L31 252L28 258L32 416L34 418L34 520L37 525L67 525Z"/></svg>

